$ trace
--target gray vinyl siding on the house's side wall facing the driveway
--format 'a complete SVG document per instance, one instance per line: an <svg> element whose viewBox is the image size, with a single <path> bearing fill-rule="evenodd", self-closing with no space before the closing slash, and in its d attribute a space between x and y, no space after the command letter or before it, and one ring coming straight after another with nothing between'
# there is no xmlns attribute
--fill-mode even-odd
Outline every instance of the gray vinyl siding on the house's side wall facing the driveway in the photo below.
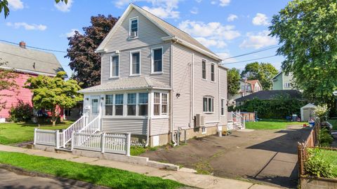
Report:
<svg viewBox="0 0 337 189"><path fill-rule="evenodd" d="M194 59L192 57L194 54ZM206 59L206 80L201 77L201 61ZM193 66L192 65L193 62ZM211 63L215 64L215 82L211 82ZM192 72L194 73L194 90L192 93ZM185 48L183 45L173 45L173 95L180 94L180 97L173 97L173 130L178 127L183 129L194 127L192 116L204 114L207 126L215 126L220 121L220 96L227 99L227 87L225 90L219 88L218 62L199 52ZM222 78L227 78L224 74ZM221 82L220 82L221 85ZM224 83L224 85L226 85ZM220 94L219 93L224 93ZM214 97L214 112L203 112L203 97L211 95ZM192 97L193 96L193 97ZM192 115L192 98L194 113ZM227 110L227 107L225 107Z"/></svg>

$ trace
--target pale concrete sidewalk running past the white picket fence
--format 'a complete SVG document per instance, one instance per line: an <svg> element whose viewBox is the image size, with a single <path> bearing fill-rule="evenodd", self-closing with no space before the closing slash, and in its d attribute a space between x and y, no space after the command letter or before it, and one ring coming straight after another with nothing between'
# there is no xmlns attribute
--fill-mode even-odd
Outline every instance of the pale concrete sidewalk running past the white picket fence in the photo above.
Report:
<svg viewBox="0 0 337 189"><path fill-rule="evenodd" d="M193 174L190 169L180 169L179 171L167 171L154 167L140 166L128 164L125 162L117 162L111 160L100 160L98 158L79 157L68 153L52 153L46 151L19 148L15 146L0 145L0 151L26 153L28 155L39 155L49 158L68 160L71 162L87 163L89 165L100 165L103 167L112 167L123 169L129 172L136 172L147 176L158 176L163 179L171 179L178 181L187 186L197 188L236 188L236 189L273 189L272 186L263 186L259 184L249 183L246 181L238 181L233 179L224 179L211 175ZM276 188L275 188L276 189Z"/></svg>

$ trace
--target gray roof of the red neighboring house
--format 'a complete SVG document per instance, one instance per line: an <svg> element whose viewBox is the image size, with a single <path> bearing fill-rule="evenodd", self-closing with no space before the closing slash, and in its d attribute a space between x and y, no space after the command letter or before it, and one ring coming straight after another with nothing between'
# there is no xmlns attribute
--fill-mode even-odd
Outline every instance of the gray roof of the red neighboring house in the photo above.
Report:
<svg viewBox="0 0 337 189"><path fill-rule="evenodd" d="M21 48L19 45L0 42L0 58L0 62L6 62L0 66L3 69L46 76L56 76L58 71L64 71L52 53Z"/></svg>

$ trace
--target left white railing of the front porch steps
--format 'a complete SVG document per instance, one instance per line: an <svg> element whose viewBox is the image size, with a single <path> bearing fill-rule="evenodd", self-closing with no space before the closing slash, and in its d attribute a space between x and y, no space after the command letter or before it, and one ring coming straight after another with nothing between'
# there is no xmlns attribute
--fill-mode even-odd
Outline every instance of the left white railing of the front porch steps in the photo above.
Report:
<svg viewBox="0 0 337 189"><path fill-rule="evenodd" d="M74 122L70 127L68 127L66 130L62 131L62 145L63 148L65 148L65 145L72 139L72 133L78 132L79 130L86 127L86 123L88 122L87 116L81 116L76 122Z"/></svg>

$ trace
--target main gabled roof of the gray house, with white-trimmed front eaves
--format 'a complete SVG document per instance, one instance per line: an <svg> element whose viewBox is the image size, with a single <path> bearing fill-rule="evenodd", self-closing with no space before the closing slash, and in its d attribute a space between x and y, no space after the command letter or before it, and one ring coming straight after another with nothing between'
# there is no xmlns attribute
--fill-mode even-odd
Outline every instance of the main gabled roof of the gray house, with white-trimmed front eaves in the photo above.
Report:
<svg viewBox="0 0 337 189"><path fill-rule="evenodd" d="M109 34L107 34L107 36L105 37L103 42L100 43L100 45L96 49L96 52L104 52L105 51L104 47L105 47L107 41L110 40L114 31L117 30L117 27L119 27L121 25L121 23L125 20L128 13L130 13L133 8L138 10L138 12L141 13L142 15L144 15L145 18L150 20L152 23L154 23L154 25L159 27L159 29L163 30L164 32L166 32L166 34L169 35L168 38L164 38L163 40L177 41L178 43L186 45L187 47L192 48L193 50L197 50L201 54L207 55L207 56L212 57L214 59L221 60L221 58L218 55L216 55L214 52L209 50L209 48L206 48L204 45L199 43L199 41L197 41L195 38L193 38L189 34L187 34L184 31L178 29L177 27L174 27L173 25L170 25L168 22L165 22L164 20L161 20L157 16L153 15L150 12L147 12L147 10L144 10L143 8L140 8L139 6L136 6L133 3L130 3L128 8L126 8L126 10L124 11L123 15L121 15L121 18L119 18L116 25L114 25L114 27L111 29Z"/></svg>

